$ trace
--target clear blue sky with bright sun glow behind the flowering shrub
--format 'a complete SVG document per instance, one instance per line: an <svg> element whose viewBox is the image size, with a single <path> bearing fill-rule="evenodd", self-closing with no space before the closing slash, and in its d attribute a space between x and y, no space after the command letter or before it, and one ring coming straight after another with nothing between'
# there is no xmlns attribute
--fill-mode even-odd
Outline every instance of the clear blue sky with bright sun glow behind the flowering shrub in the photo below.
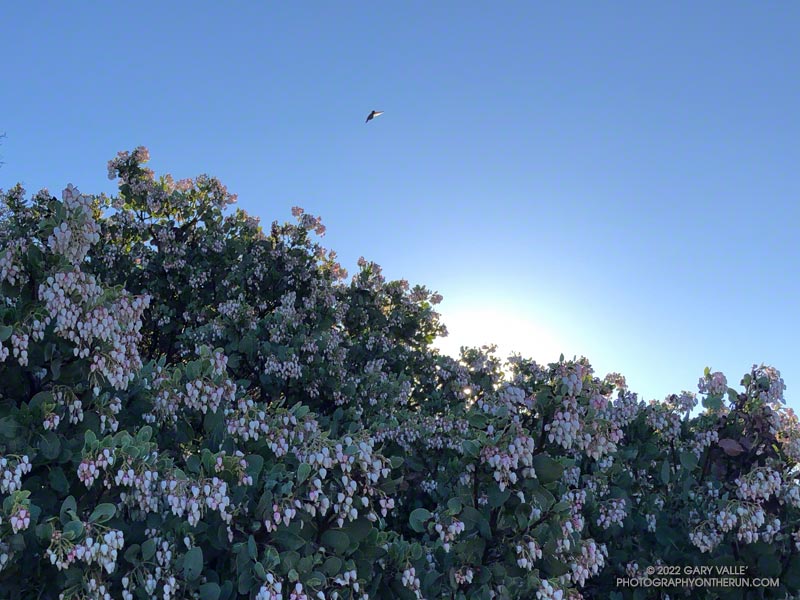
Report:
<svg viewBox="0 0 800 600"><path fill-rule="evenodd" d="M351 272L441 292L445 349L585 355L645 399L765 362L800 407L796 2L5 2L0 22L2 188L111 193L106 162L145 145L267 224L321 215Z"/></svg>

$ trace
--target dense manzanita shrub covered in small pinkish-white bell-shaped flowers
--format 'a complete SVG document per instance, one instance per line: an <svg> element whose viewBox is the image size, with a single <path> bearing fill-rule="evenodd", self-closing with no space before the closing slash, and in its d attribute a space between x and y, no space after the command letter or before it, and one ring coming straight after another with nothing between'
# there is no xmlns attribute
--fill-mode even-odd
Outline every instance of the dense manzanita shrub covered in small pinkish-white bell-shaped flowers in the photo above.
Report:
<svg viewBox="0 0 800 600"><path fill-rule="evenodd" d="M778 371L453 360L437 294L147 159L2 194L0 599L797 597ZM697 565L773 583L620 583Z"/></svg>

